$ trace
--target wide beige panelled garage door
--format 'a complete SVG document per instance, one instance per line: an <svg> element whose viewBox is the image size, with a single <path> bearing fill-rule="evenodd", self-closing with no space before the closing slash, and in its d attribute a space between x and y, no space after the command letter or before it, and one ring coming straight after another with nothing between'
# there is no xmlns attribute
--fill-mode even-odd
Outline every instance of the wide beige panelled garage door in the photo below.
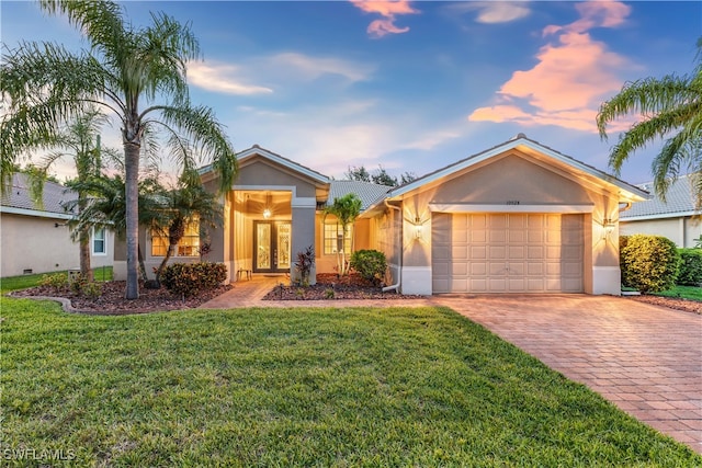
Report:
<svg viewBox="0 0 702 468"><path fill-rule="evenodd" d="M432 216L434 293L581 293L582 215Z"/></svg>

